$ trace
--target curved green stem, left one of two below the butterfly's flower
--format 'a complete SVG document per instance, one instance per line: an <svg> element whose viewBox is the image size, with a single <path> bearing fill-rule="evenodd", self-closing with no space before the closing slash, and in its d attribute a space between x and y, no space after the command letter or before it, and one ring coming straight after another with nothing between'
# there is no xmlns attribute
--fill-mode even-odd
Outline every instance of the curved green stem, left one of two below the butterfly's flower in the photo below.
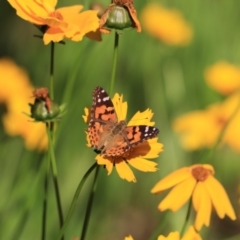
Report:
<svg viewBox="0 0 240 240"><path fill-rule="evenodd" d="M64 232L65 232L65 229L66 229L66 227L67 227L67 225L68 225L68 223L69 223L69 220L70 220L70 218L72 217L74 208L75 208L75 206L76 206L76 204L77 204L78 196L79 196L79 194L80 194L80 192L81 192L81 190L82 190L82 188L83 188L83 185L84 185L85 181L87 180L88 176L90 175L90 173L94 170L94 168L96 168L96 166L97 166L97 163L95 162L95 163L88 169L88 171L87 171L87 172L85 173L85 175L83 176L82 180L79 182L78 187L77 187L77 189L76 189L76 192L75 192L75 194L74 194L74 197L73 197L71 206L70 206L70 208L69 208L69 210L68 210L67 217L66 217L65 222L64 222L64 224L63 224L63 226L62 226L62 228L61 228L61 230L60 230L60 232L59 232L59 234L58 234L57 240L60 240L60 238L63 236L63 234L64 234Z"/></svg>

